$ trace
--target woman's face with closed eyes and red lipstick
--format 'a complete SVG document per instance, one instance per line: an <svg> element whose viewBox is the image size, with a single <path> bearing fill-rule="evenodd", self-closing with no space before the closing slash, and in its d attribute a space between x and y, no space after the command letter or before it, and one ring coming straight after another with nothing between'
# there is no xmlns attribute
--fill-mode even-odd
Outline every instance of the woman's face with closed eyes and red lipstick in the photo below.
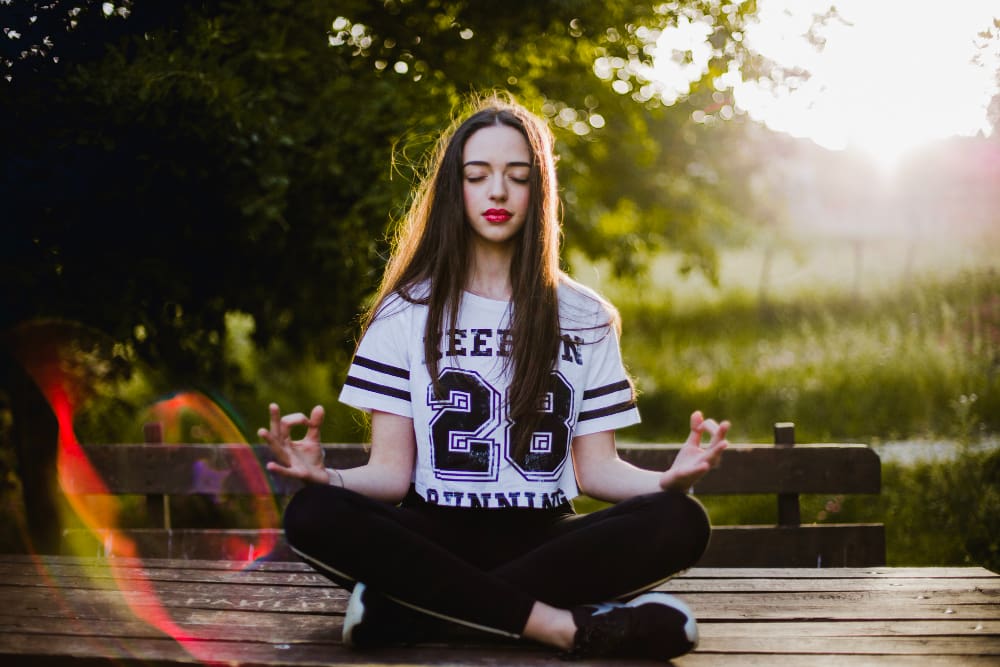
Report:
<svg viewBox="0 0 1000 667"><path fill-rule="evenodd" d="M531 202L531 150L507 125L477 130L462 151L465 219L476 237L509 245L524 227Z"/></svg>

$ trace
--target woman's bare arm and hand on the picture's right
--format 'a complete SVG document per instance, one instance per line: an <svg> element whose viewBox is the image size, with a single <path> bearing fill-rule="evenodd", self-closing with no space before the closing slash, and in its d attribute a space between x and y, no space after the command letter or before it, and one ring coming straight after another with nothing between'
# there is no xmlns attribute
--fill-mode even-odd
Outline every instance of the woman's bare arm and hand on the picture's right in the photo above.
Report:
<svg viewBox="0 0 1000 667"><path fill-rule="evenodd" d="M656 491L687 491L713 466L719 463L728 446L729 422L718 424L704 419L700 412L691 415L691 433L668 470L645 470L618 457L614 431L601 431L573 439L573 465L580 490L587 495L618 502ZM701 446L703 433L710 435L707 447Z"/></svg>

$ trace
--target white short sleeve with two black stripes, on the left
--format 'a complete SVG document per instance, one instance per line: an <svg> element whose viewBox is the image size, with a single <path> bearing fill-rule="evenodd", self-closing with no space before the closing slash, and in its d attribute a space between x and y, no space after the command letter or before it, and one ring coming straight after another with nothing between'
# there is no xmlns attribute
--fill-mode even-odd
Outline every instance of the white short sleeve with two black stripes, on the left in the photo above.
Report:
<svg viewBox="0 0 1000 667"><path fill-rule="evenodd" d="M412 309L387 300L365 331L351 361L340 401L371 412L413 416L410 399L410 321Z"/></svg>

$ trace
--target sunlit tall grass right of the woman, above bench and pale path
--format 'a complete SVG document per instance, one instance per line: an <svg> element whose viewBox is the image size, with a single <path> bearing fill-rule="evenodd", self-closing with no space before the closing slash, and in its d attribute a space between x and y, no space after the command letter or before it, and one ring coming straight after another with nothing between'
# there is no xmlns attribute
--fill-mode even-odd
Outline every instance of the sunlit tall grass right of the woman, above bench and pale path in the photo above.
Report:
<svg viewBox="0 0 1000 667"><path fill-rule="evenodd" d="M581 267L622 314L646 407L626 437L681 437L695 408L731 419L745 441L769 440L776 421L796 422L803 441L1000 431L996 253L872 241L859 269L847 242L799 244L776 254L764 298L762 256L723 253L717 286L679 275L670 257L638 287Z"/></svg>

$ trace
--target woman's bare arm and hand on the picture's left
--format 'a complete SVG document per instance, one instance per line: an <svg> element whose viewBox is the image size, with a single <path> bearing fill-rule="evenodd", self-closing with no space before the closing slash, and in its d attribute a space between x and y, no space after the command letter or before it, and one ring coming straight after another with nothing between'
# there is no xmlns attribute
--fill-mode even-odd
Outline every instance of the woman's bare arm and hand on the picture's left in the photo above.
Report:
<svg viewBox="0 0 1000 667"><path fill-rule="evenodd" d="M271 428L257 434L267 442L275 461L267 464L271 472L313 484L343 483L345 488L376 500L399 502L410 488L416 456L413 420L388 412L372 412L372 447L368 463L356 468L334 471L323 465L319 430L325 412L313 408L307 417L301 412L281 416L274 403L270 406ZM305 426L306 435L292 440L291 430Z"/></svg>

